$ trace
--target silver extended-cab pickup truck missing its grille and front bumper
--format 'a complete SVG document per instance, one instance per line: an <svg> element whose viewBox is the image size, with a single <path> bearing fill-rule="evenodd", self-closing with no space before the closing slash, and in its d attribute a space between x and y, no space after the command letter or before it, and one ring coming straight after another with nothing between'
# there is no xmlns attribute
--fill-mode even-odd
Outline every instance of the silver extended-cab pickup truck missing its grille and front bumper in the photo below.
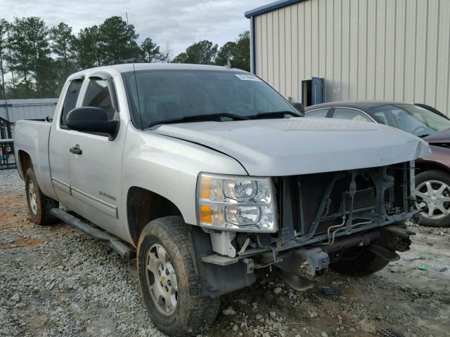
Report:
<svg viewBox="0 0 450 337"><path fill-rule="evenodd" d="M299 290L328 267L376 272L409 249L413 163L430 148L389 126L302 115L230 67L78 72L52 121L16 126L30 216L136 256L148 314L171 336L201 331L219 297L261 271Z"/></svg>

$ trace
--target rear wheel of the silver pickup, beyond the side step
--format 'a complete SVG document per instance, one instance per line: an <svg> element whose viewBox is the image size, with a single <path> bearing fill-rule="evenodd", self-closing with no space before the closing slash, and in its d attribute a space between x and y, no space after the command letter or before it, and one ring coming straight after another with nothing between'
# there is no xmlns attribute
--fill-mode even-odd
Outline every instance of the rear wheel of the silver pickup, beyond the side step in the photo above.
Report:
<svg viewBox="0 0 450 337"><path fill-rule="evenodd" d="M37 225L56 223L58 218L54 217L50 211L58 208L59 203L42 194L33 168L28 169L27 173L25 173L25 191L27 193L28 212L33 222Z"/></svg>

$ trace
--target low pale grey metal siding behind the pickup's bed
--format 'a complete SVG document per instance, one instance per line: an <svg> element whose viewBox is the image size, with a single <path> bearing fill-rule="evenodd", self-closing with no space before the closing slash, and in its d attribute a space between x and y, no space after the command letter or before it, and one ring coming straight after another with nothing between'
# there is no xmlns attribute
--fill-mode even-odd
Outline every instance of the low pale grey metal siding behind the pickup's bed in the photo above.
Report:
<svg viewBox="0 0 450 337"><path fill-rule="evenodd" d="M43 119L47 116L53 117L57 102L58 98L0 100L0 117L9 119L11 122L20 119ZM8 109L8 116L6 116L6 108Z"/></svg>

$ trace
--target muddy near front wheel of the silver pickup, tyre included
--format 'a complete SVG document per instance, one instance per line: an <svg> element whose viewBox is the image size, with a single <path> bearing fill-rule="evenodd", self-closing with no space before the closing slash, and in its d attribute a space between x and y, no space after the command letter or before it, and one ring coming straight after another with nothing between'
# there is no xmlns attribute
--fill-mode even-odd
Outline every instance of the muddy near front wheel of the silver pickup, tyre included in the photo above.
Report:
<svg viewBox="0 0 450 337"><path fill-rule="evenodd" d="M195 335L219 311L219 298L203 296L195 273L191 225L178 216L153 220L139 237L139 287L148 315L169 336Z"/></svg>

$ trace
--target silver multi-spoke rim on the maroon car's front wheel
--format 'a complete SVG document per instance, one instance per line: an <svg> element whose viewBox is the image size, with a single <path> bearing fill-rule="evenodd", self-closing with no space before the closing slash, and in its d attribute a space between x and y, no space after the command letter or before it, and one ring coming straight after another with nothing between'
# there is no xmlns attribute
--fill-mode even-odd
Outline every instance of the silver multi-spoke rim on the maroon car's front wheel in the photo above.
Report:
<svg viewBox="0 0 450 337"><path fill-rule="evenodd" d="M416 197L427 204L421 216L437 220L450 213L450 187L439 180L427 180L416 187Z"/></svg>

